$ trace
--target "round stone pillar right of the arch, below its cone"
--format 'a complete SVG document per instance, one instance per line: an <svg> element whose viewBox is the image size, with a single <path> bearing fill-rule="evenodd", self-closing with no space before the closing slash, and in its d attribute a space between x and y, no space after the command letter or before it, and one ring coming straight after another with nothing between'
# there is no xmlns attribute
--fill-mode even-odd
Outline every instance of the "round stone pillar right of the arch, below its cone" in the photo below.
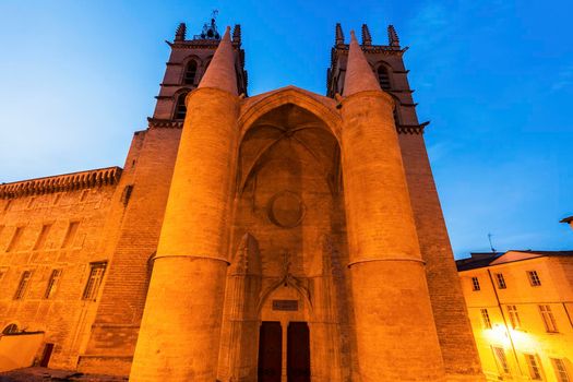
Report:
<svg viewBox="0 0 573 382"><path fill-rule="evenodd" d="M358 363L362 382L442 381L392 98L343 100L342 158Z"/></svg>

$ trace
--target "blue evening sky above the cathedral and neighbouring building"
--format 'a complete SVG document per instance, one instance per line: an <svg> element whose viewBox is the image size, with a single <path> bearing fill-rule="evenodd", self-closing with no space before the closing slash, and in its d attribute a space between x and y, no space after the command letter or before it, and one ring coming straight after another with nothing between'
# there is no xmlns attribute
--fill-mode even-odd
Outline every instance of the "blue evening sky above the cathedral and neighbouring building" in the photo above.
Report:
<svg viewBox="0 0 573 382"><path fill-rule="evenodd" d="M240 23L251 95L325 92L334 25L394 24L456 256L573 249L571 1L0 2L0 182L123 165L179 22Z"/></svg>

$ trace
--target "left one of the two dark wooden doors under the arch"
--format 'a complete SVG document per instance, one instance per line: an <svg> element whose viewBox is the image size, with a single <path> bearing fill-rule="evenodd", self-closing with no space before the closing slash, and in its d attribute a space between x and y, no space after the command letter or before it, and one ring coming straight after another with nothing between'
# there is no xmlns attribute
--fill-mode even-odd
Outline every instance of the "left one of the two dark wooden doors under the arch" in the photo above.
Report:
<svg viewBox="0 0 573 382"><path fill-rule="evenodd" d="M280 382L282 363L280 322L263 321L259 336L259 382Z"/></svg>

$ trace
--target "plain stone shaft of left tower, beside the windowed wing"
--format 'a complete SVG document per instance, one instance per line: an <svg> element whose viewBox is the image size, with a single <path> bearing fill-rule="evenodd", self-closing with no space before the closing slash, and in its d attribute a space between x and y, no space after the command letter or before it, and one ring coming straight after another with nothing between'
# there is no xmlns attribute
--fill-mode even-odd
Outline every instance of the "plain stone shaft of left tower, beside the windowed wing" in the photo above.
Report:
<svg viewBox="0 0 573 382"><path fill-rule="evenodd" d="M175 166L180 129L138 132L119 190L131 189L126 205L110 211L106 252L114 261L79 368L128 374L157 249Z"/></svg>

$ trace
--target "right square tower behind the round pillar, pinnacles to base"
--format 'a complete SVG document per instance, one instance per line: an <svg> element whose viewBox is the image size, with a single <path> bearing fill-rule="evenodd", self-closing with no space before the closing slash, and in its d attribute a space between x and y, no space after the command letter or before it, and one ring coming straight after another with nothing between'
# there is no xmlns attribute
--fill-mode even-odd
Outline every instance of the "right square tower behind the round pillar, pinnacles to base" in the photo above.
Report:
<svg viewBox="0 0 573 382"><path fill-rule="evenodd" d="M358 47L363 52L380 88L393 100L394 127L445 374L449 378L466 375L471 381L482 380L450 238L426 151L423 133L430 122L420 123L418 120L417 104L413 99L414 89L410 88L407 79L409 70L404 64L404 55L408 47L401 46L393 25L387 26L386 44L373 44L366 24L362 24L361 45ZM331 67L326 72L326 94L331 98L342 99L341 95L348 93L345 87L349 84L349 50L350 44L345 41L342 25L336 24Z"/></svg>

